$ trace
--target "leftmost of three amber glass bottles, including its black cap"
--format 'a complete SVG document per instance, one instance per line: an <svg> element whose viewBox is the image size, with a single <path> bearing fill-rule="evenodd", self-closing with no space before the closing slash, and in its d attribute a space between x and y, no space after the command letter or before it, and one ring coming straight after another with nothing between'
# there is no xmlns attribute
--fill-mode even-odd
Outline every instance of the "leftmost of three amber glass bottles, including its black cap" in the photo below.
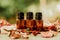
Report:
<svg viewBox="0 0 60 40"><path fill-rule="evenodd" d="M24 13L18 13L18 20L17 20L17 29L24 29L25 28L25 20L24 20Z"/></svg>

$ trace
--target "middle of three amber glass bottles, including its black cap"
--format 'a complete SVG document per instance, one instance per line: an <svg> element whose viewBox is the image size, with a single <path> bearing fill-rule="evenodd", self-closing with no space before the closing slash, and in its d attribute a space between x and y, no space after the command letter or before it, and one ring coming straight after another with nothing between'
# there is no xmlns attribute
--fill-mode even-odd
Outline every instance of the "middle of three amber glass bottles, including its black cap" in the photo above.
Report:
<svg viewBox="0 0 60 40"><path fill-rule="evenodd" d="M33 13L32 12L27 12L26 27L29 28L30 30L32 30L33 26L34 26Z"/></svg>

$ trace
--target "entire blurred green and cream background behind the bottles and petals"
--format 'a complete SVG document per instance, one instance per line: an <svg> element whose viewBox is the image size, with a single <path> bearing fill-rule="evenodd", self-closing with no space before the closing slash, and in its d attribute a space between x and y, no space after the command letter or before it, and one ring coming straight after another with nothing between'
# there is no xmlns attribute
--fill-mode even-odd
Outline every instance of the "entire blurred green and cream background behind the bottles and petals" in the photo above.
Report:
<svg viewBox="0 0 60 40"><path fill-rule="evenodd" d="M54 22L60 19L60 0L0 0L0 19L16 22L18 12L42 12L43 20Z"/></svg>

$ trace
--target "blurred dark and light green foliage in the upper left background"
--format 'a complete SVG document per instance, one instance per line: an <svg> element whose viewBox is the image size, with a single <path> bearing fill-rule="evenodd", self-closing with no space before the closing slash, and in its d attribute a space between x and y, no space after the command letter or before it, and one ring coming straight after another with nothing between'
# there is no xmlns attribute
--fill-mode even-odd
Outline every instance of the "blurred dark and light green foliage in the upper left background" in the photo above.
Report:
<svg viewBox="0 0 60 40"><path fill-rule="evenodd" d="M0 0L0 17L15 18L17 12L26 12L29 5L38 3L39 0Z"/></svg>

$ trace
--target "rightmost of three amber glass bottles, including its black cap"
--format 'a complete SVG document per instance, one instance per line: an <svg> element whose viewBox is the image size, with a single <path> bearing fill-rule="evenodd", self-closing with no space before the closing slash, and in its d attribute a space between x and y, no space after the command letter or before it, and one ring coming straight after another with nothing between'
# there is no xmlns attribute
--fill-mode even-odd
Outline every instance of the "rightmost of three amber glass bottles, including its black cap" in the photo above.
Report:
<svg viewBox="0 0 60 40"><path fill-rule="evenodd" d="M42 20L42 13L41 12L36 12L35 22L36 22L37 30L41 31L43 28L43 20Z"/></svg>

